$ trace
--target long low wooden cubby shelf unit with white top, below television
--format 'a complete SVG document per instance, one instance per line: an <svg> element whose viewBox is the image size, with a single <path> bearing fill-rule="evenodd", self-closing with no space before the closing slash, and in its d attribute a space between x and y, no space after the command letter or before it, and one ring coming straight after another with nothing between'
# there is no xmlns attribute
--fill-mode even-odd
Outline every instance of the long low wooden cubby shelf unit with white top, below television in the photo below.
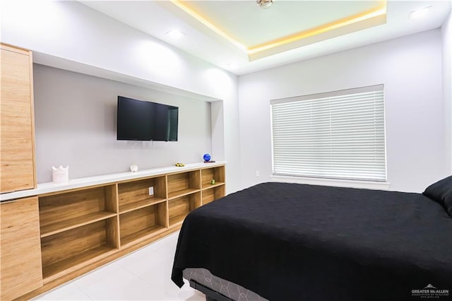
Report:
<svg viewBox="0 0 452 301"><path fill-rule="evenodd" d="M195 163L40 185L20 192L20 197L35 196L39 206L37 260L44 285L25 299L179 230L191 211L225 196L225 164Z"/></svg>

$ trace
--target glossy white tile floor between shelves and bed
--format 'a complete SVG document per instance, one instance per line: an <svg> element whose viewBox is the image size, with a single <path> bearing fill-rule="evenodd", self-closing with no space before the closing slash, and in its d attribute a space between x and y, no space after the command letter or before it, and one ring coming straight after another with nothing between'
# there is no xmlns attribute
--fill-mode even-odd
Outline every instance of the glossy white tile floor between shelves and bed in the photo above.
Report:
<svg viewBox="0 0 452 301"><path fill-rule="evenodd" d="M206 297L171 281L179 232L54 288L33 300L185 300Z"/></svg>

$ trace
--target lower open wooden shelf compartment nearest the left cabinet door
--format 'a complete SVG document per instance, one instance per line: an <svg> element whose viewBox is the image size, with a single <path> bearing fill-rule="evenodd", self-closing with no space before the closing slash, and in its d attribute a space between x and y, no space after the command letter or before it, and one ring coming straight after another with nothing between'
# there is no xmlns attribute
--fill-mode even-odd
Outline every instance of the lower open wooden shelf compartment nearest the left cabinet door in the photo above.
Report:
<svg viewBox="0 0 452 301"><path fill-rule="evenodd" d="M42 237L42 276L44 283L102 259L115 252L117 216L78 228Z"/></svg>

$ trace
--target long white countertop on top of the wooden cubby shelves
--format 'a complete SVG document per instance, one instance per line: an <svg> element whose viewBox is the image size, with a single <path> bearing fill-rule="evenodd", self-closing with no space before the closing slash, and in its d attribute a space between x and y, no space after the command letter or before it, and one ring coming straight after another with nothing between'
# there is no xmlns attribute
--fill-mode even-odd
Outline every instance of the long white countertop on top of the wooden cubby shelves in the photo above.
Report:
<svg viewBox="0 0 452 301"><path fill-rule="evenodd" d="M150 170L138 170L138 172L119 172L110 175L98 175L94 177L81 177L77 179L69 179L69 182L54 183L47 182L37 184L37 188L8 192L0 194L0 201L8 201L13 199L25 198L27 196L36 196L38 194L48 194L50 192L64 191L69 189L76 189L81 187L89 187L93 185L108 184L114 182L125 181L129 179L139 179L142 177L152 177L155 175L169 174L173 172L184 172L187 170L197 170L204 167L215 167L225 165L226 161L217 161L215 163L191 163L184 167L160 167L152 168Z"/></svg>

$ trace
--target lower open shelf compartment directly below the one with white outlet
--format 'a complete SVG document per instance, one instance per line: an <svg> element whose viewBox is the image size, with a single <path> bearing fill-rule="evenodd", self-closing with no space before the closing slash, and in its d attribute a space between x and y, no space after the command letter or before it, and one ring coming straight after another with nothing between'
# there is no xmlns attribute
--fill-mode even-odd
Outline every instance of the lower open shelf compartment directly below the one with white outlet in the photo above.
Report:
<svg viewBox="0 0 452 301"><path fill-rule="evenodd" d="M119 216L121 247L145 240L167 228L167 203L156 203Z"/></svg>

